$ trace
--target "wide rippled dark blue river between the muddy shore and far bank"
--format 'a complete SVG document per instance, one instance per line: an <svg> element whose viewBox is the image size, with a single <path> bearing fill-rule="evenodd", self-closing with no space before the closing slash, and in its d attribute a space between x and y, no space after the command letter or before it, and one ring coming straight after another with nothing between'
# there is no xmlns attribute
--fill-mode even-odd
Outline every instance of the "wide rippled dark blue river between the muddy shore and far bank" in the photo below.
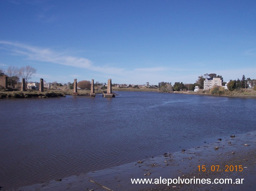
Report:
<svg viewBox="0 0 256 191"><path fill-rule="evenodd" d="M79 175L255 130L256 99L118 94L2 99L1 186Z"/></svg>

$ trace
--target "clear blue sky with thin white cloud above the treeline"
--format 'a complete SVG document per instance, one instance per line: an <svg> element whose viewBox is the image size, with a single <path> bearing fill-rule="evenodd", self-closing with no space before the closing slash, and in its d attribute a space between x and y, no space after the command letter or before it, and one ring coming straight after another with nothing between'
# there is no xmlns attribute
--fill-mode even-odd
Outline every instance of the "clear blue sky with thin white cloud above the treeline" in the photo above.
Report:
<svg viewBox="0 0 256 191"><path fill-rule="evenodd" d="M59 83L256 79L256 1L1 0L0 69Z"/></svg>

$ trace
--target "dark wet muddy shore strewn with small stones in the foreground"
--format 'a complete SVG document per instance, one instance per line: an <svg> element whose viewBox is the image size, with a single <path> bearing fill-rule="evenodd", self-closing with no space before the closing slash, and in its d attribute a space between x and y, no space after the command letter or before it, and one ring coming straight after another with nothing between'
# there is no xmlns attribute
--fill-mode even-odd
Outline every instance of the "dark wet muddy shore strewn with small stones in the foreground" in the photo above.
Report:
<svg viewBox="0 0 256 191"><path fill-rule="evenodd" d="M212 143L208 143L207 140L204 143L203 140L202 145L189 149L180 148L174 153L166 151L165 155L148 156L146 159L138 158L142 163L136 161L80 176L59 177L57 180L10 190L256 190L256 131L235 134L235 137L225 135L219 138L222 140ZM198 165L206 165L206 171L199 171ZM211 170L212 165L220 165L218 172ZM226 165L242 165L243 171L225 172ZM178 176L180 178L211 178L212 182L215 178L232 178L233 180L244 178L244 180L243 184L171 184L169 186L167 184L131 183L131 178L152 178L154 180L160 177L174 179ZM5 189L1 188L1 190Z"/></svg>

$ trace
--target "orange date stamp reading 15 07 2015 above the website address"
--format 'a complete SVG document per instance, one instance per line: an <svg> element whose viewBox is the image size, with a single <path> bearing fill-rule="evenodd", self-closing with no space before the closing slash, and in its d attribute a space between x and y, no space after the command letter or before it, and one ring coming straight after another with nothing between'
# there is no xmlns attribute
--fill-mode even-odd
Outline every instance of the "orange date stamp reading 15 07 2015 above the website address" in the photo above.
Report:
<svg viewBox="0 0 256 191"><path fill-rule="evenodd" d="M209 166L209 168L206 165L198 165L198 170L199 171L225 171L225 172L237 172L243 171L243 165L226 165L224 169L220 168L220 165L212 165L211 167Z"/></svg>

